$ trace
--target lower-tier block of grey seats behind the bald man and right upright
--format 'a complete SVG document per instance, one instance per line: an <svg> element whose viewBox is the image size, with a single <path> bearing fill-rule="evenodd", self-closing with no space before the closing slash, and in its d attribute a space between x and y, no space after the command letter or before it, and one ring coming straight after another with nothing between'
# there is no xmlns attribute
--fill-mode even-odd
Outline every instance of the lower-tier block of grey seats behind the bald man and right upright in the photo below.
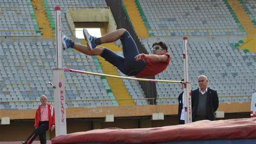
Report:
<svg viewBox="0 0 256 144"><path fill-rule="evenodd" d="M188 40L188 65L191 89L198 87L197 76L203 74L208 76L208 86L217 90L219 96L251 95L251 93L256 91L255 82L253 81L256 78L254 72L256 68L256 54L232 49L229 42L236 42L241 39L239 37L228 39L223 36L219 39L213 41L208 38L191 38ZM171 62L166 71L155 77L161 80L180 81L183 77L182 38L168 40L166 37L151 37L143 39L142 42L147 47L148 53L151 53L150 47L152 44L160 40L168 42L169 47L171 47L168 51L171 54ZM177 84L157 83L158 98L177 98L181 92L182 89ZM250 101L248 98L233 98L232 100L233 102ZM160 101L159 99L158 103ZM175 99L162 99L162 101L165 104L169 104L170 101L177 103ZM231 101L223 99L221 102Z"/></svg>

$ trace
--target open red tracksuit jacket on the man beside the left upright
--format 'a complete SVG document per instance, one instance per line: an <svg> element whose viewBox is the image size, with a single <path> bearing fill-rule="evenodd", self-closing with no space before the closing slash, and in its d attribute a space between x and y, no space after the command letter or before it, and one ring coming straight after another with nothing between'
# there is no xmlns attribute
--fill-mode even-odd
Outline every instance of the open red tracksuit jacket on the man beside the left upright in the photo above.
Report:
<svg viewBox="0 0 256 144"><path fill-rule="evenodd" d="M49 129L51 129L51 127L55 125L55 114L54 114L53 106L51 104L47 104L47 105L48 105ZM42 105L39 105L37 110L35 111L35 125L34 125L35 128L38 127L40 122L41 106Z"/></svg>

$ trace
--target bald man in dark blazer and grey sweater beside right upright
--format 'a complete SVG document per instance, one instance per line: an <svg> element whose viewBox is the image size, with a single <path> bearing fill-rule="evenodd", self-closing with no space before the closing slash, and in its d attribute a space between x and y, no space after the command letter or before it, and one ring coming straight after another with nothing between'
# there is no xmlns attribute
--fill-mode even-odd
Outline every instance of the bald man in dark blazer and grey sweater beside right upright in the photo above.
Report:
<svg viewBox="0 0 256 144"><path fill-rule="evenodd" d="M200 75L197 80L200 88L191 93L192 120L214 120L214 112L219 106L217 91L207 87L208 79L206 76Z"/></svg>

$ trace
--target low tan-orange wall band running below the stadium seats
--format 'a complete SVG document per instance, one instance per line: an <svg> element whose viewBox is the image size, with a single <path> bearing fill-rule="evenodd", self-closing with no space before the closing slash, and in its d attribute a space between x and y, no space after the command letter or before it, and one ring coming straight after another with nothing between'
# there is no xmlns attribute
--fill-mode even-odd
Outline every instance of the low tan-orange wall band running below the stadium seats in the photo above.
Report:
<svg viewBox="0 0 256 144"><path fill-rule="evenodd" d="M220 103L217 111L224 113L242 113L251 111L250 102ZM135 106L103 106L103 107L68 107L67 118L102 118L105 115L115 117L151 116L153 113L177 115L178 105L135 105ZM1 117L16 119L33 119L35 110L0 110ZM1 118L0 117L0 118Z"/></svg>

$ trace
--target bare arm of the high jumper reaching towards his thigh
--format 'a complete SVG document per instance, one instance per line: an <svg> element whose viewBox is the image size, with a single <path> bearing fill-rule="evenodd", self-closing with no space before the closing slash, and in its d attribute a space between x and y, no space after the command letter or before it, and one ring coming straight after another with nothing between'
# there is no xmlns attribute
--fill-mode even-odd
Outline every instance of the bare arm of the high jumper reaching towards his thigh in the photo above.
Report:
<svg viewBox="0 0 256 144"><path fill-rule="evenodd" d="M150 59L153 62L165 62L168 59L168 55L146 55L146 54L139 54L135 56L135 60L143 60L143 59Z"/></svg>

